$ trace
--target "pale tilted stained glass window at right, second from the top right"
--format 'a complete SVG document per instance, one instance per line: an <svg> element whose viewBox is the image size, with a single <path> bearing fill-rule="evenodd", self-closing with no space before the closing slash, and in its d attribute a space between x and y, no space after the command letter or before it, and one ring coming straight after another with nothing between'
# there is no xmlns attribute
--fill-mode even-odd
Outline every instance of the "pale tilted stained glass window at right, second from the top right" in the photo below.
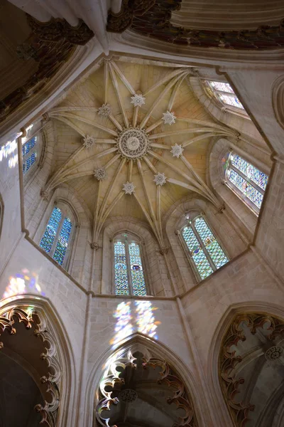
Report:
<svg viewBox="0 0 284 427"><path fill-rule="evenodd" d="M223 159L226 184L256 213L259 213L263 195L268 183L268 175L235 152Z"/></svg>

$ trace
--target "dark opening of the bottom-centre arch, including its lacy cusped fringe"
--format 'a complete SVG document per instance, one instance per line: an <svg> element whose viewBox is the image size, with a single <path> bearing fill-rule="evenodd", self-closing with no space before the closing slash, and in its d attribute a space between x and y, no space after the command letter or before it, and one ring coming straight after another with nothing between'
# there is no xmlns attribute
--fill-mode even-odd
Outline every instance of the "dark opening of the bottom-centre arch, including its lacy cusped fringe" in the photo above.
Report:
<svg viewBox="0 0 284 427"><path fill-rule="evenodd" d="M168 362L142 351L120 352L107 364L97 392L97 426L155 421L157 426L197 427L184 381Z"/></svg>

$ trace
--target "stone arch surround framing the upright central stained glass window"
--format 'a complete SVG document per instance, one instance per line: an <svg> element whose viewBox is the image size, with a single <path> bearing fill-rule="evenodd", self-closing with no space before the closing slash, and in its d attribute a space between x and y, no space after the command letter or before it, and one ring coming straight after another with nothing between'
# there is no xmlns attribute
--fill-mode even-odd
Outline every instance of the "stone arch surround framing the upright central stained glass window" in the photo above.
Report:
<svg viewBox="0 0 284 427"><path fill-rule="evenodd" d="M165 289L170 287L170 283L168 280L163 280L162 271L166 271L166 265L151 229L142 221L134 221L131 217L121 216L109 218L101 233L102 240L99 246L102 246L102 252L98 254L101 256L102 262L101 292L104 294L111 293L112 239L123 231L134 234L141 242L148 289L153 295L165 295Z"/></svg>

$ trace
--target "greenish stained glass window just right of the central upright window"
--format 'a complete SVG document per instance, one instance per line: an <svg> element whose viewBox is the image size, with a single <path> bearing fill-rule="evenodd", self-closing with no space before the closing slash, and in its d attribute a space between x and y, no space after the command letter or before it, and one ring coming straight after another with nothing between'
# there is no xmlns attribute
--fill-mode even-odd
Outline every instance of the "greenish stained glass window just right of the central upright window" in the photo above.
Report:
<svg viewBox="0 0 284 427"><path fill-rule="evenodd" d="M182 237L202 280L229 261L202 216L197 216L182 229Z"/></svg>

